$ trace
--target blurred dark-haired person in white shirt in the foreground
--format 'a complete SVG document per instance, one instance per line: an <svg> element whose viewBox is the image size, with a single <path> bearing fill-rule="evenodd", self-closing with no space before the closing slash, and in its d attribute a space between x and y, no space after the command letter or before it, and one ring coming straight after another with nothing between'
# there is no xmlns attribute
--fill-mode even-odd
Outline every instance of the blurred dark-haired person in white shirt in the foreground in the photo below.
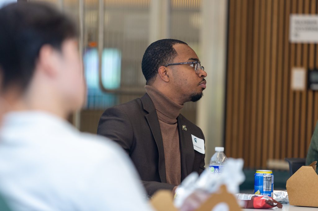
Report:
<svg viewBox="0 0 318 211"><path fill-rule="evenodd" d="M74 24L40 3L0 9L0 189L14 210L151 210L123 150L65 119L85 83Z"/></svg>

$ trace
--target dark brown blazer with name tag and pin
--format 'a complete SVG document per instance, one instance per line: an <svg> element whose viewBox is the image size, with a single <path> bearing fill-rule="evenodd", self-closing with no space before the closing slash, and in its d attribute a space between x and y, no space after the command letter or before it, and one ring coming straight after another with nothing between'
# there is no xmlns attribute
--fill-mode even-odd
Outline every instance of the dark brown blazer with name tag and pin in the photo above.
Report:
<svg viewBox="0 0 318 211"><path fill-rule="evenodd" d="M204 139L199 127L181 114L177 117L181 181L191 172L204 170L204 157L193 149L191 134ZM182 130L186 125L187 130ZM166 183L162 135L155 106L146 93L142 98L108 108L100 117L97 133L106 136L127 151L141 177L148 195L158 189L174 188Z"/></svg>

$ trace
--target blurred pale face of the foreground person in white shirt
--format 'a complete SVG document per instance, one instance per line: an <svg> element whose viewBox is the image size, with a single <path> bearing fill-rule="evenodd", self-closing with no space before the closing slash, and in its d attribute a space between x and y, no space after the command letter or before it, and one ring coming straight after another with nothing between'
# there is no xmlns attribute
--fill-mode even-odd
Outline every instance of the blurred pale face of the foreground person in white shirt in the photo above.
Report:
<svg viewBox="0 0 318 211"><path fill-rule="evenodd" d="M59 68L59 93L71 111L77 110L84 103L85 80L75 39L62 43L62 53L57 66Z"/></svg>

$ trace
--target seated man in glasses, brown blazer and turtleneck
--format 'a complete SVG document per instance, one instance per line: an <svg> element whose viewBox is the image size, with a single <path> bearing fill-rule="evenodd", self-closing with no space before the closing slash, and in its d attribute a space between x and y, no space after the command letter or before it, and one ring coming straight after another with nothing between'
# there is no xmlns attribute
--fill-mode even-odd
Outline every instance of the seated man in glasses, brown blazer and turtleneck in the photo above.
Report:
<svg viewBox="0 0 318 211"><path fill-rule="evenodd" d="M204 170L204 135L180 110L202 97L207 74L197 54L173 39L146 49L142 73L146 94L107 109L97 133L126 150L149 195L158 189L175 191L191 172Z"/></svg>

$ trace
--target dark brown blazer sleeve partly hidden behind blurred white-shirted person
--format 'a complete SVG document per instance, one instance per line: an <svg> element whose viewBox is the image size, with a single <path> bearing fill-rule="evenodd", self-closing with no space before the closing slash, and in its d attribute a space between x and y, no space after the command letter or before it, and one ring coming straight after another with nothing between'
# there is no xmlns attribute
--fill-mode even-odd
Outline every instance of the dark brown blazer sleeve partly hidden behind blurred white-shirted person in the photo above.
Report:
<svg viewBox="0 0 318 211"><path fill-rule="evenodd" d="M105 136L120 144L121 147L130 155L133 141L134 130L127 114L119 108L108 108L100 117L97 134ZM172 190L175 186L155 181L142 181L147 194L153 195L159 189Z"/></svg>

